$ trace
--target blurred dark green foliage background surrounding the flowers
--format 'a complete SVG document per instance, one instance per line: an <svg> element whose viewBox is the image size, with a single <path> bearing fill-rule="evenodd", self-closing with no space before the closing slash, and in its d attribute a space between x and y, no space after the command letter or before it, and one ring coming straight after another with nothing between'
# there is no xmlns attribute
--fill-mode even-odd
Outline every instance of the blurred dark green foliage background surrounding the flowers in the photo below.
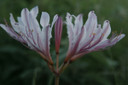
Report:
<svg viewBox="0 0 128 85"><path fill-rule="evenodd" d="M39 16L47 11L51 18L57 13L65 20L66 13L82 13L84 21L94 10L98 22L108 19L112 31L126 37L104 51L89 53L73 62L61 75L60 85L128 85L128 0L0 0L0 23L9 22L9 13L15 18L22 8L39 6ZM54 36L53 36L54 37ZM54 38L51 55L55 60ZM60 49L60 62L66 55L68 39L66 26ZM0 85L54 85L54 75L44 60L34 51L12 39L0 28Z"/></svg>

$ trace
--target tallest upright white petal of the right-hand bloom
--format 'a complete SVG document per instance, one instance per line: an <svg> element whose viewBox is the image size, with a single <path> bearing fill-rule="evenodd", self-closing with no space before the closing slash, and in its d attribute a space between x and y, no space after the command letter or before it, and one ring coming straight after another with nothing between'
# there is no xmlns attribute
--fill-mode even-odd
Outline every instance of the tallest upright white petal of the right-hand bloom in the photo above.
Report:
<svg viewBox="0 0 128 85"><path fill-rule="evenodd" d="M99 29L97 29L97 16L95 15L94 11L89 12L88 19L84 25L84 29L85 32L81 39L79 49L83 46L86 46L86 44L92 39L92 37L97 34L98 31L100 31Z"/></svg>

